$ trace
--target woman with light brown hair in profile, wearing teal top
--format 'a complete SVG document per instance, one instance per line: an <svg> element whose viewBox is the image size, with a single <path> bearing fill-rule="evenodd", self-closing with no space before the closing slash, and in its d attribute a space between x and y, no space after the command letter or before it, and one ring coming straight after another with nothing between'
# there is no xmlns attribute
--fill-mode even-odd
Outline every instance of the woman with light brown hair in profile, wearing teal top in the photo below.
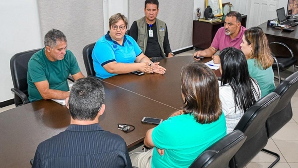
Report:
<svg viewBox="0 0 298 168"><path fill-rule="evenodd" d="M263 30L259 27L247 29L240 47L247 59L249 75L258 82L261 96L266 96L275 89L275 84L273 57Z"/></svg>

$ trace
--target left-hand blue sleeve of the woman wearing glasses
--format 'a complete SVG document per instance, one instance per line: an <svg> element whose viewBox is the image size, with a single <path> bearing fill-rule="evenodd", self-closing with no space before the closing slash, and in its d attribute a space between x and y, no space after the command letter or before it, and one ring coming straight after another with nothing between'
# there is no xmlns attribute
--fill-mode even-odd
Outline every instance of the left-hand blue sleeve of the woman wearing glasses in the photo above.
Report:
<svg viewBox="0 0 298 168"><path fill-rule="evenodd" d="M96 42L93 54L93 60L97 61L101 66L116 61L111 44L105 41Z"/></svg>

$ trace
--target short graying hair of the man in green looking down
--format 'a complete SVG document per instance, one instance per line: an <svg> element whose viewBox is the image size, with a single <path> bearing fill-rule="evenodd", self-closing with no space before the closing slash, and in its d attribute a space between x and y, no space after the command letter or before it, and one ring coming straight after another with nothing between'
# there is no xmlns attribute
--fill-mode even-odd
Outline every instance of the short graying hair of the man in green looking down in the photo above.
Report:
<svg viewBox="0 0 298 168"><path fill-rule="evenodd" d="M53 48L57 41L67 42L66 36L60 30L52 29L45 35L45 46Z"/></svg>

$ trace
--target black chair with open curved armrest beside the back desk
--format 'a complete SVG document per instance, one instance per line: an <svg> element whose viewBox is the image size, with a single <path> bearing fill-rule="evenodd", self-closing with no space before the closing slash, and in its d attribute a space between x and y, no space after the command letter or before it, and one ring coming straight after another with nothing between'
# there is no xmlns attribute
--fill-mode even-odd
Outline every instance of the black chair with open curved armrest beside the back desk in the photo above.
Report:
<svg viewBox="0 0 298 168"><path fill-rule="evenodd" d="M286 47L291 53L291 57L279 56L275 53L272 53L272 56L273 56L273 59L274 59L272 69L277 71L278 80L279 80L279 83L281 83L280 72L282 72L282 71L290 68L291 66L293 66L293 73L295 73L295 63L297 62L297 58L294 57L292 49L283 42L270 42L269 45L270 45L271 48L281 47L281 46Z"/></svg>

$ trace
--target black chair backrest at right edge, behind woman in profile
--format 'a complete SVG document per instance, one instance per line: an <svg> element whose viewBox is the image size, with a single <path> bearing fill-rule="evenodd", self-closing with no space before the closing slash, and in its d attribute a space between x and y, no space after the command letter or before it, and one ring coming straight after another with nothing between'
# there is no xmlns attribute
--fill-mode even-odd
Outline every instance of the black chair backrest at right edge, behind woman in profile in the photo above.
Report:
<svg viewBox="0 0 298 168"><path fill-rule="evenodd" d="M286 78L274 92L281 96L278 105L266 121L268 138L285 126L293 117L291 99L298 89L298 72Z"/></svg>

